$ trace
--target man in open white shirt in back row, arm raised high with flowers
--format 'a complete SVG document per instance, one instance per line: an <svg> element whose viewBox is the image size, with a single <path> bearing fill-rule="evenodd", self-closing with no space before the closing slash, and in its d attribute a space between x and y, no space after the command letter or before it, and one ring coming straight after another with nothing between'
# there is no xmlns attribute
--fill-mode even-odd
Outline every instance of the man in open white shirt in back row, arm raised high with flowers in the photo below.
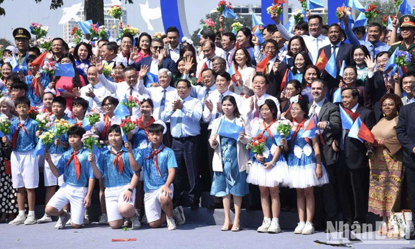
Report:
<svg viewBox="0 0 415 249"><path fill-rule="evenodd" d="M271 19L277 24L277 29L281 33L282 37L286 40L290 40L294 34L288 32L288 30L281 23L278 15L275 13L271 14ZM310 35L302 35L305 44L307 44L307 49L310 51L311 60L313 64L317 62L318 51L330 44L328 37L321 34L321 28L323 27L323 19L319 15L310 15L308 17L308 32Z"/></svg>

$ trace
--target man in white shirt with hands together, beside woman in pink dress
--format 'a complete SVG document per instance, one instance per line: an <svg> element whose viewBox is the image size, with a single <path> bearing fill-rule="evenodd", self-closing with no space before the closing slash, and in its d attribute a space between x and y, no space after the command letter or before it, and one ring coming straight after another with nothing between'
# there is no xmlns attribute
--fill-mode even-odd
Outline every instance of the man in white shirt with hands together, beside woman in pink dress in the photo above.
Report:
<svg viewBox="0 0 415 249"><path fill-rule="evenodd" d="M73 90L76 97L81 97L88 101L88 109L100 109L104 111L101 106L105 97L110 96L111 93L101 84L98 79L98 69L96 66L89 66L86 76L88 77L89 84L81 88L80 91Z"/></svg>

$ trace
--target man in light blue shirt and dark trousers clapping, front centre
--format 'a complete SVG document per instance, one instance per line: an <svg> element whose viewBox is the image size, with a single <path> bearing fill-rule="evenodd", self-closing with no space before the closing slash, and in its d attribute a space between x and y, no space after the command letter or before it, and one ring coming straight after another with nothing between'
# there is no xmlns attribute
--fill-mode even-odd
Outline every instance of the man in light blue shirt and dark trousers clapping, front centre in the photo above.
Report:
<svg viewBox="0 0 415 249"><path fill-rule="evenodd" d="M186 79L177 83L179 98L162 113L164 121L170 119L171 134L173 136L173 149L177 166L174 178L174 202L181 204L183 194L183 177L186 167L189 179L190 207L198 208L200 199L199 186L199 153L200 153L200 117L202 117L202 103L190 96L192 84Z"/></svg>

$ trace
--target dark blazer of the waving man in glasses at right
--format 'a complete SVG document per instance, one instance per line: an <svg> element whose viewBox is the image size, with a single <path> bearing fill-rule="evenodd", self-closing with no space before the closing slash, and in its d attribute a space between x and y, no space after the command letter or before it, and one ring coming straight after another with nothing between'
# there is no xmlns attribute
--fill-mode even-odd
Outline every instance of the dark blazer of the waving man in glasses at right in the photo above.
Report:
<svg viewBox="0 0 415 249"><path fill-rule="evenodd" d="M379 100L381 100L382 96L386 93L385 79L383 78L383 74L379 71L376 71L372 78L367 78L365 90L371 97L372 109L375 112L376 121L379 121L382 117Z"/></svg>

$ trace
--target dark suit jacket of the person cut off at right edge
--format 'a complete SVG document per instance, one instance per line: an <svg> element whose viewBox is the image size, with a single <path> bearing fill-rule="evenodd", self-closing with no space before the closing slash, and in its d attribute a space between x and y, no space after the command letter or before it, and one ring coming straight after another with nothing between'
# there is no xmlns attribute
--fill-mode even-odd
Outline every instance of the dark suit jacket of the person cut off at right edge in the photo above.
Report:
<svg viewBox="0 0 415 249"><path fill-rule="evenodd" d="M396 136L403 146L403 164L415 168L415 103L400 107Z"/></svg>

